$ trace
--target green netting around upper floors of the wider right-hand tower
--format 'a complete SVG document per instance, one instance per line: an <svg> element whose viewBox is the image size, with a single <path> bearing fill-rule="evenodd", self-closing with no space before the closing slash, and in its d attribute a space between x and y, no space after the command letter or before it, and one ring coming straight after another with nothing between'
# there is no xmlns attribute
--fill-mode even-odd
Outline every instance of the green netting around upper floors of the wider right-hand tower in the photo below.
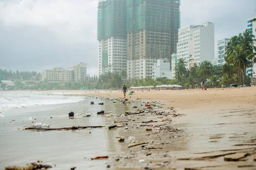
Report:
<svg viewBox="0 0 256 170"><path fill-rule="evenodd" d="M126 6L127 32L180 28L179 0L126 0Z"/></svg>

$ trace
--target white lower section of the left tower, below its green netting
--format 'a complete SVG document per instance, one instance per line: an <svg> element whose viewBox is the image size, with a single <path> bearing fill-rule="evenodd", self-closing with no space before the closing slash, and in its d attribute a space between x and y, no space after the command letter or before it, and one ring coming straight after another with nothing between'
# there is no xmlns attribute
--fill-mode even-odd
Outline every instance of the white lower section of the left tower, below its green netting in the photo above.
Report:
<svg viewBox="0 0 256 170"><path fill-rule="evenodd" d="M105 72L126 71L127 38L108 37L99 40L99 75Z"/></svg>

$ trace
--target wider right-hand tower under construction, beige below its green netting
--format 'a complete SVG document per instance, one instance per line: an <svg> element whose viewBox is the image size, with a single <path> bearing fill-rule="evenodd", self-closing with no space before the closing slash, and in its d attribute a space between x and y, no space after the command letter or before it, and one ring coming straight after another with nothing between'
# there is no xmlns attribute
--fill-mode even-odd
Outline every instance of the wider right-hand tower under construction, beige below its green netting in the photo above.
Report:
<svg viewBox="0 0 256 170"><path fill-rule="evenodd" d="M127 0L128 79L152 77L154 63L176 51L180 0Z"/></svg>

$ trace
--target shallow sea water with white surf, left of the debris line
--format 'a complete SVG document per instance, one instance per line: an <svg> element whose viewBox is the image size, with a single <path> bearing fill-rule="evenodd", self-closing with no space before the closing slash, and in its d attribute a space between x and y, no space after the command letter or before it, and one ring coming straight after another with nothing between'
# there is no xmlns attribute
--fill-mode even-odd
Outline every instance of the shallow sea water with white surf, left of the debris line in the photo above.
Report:
<svg viewBox="0 0 256 170"><path fill-rule="evenodd" d="M1 93L0 117L0 169L8 165L26 165L42 160L52 170L104 170L114 160L93 160L96 156L110 155L118 147L116 136L119 130L108 130L113 118L96 113L105 110L111 114L130 110L132 105L113 103L111 100L86 98L85 96L63 96L44 93ZM94 105L90 102L94 101ZM104 105L97 103L104 102ZM134 103L135 105L135 103ZM91 114L90 117L68 117L68 113ZM33 122L33 123L32 123ZM104 128L45 131L20 130L35 122L50 124L50 127L105 126ZM88 132L91 133L88 133ZM56 165L56 167L54 166Z"/></svg>

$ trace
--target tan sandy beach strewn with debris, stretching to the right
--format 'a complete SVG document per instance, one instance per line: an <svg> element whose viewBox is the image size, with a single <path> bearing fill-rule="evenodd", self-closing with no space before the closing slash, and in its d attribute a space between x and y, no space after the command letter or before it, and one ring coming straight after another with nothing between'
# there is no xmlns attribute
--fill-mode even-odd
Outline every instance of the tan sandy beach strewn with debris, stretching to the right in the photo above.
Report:
<svg viewBox="0 0 256 170"><path fill-rule="evenodd" d="M72 95L97 96L102 101L105 98L120 98L124 101L123 93L118 91L48 92L77 92L79 94ZM145 107L140 105L142 102L154 104L152 101L160 101L156 105L161 108L154 109L154 113L120 116L123 110L132 110L131 103L129 107L124 107L116 114L113 113L113 117L107 118L108 125L113 124L111 122L114 119L127 121L128 129L115 128L104 131L108 133L108 145L104 153L109 156L105 163L110 165L110 168L105 166L105 169L256 168L256 87L135 91L135 95L127 95L127 98L128 101L136 101L139 109ZM138 98L142 100L136 100ZM108 108L111 108L111 103L113 104L113 101L108 100ZM170 119L172 121L168 121ZM153 122L142 124L143 121L150 120ZM151 128L152 131L147 131L147 128ZM125 140L128 136L134 136L136 143L145 144L128 148L131 144L127 141L118 142L118 136L123 136ZM95 163L101 161L103 160L95 160ZM81 162L77 161L77 164L81 167Z"/></svg>

